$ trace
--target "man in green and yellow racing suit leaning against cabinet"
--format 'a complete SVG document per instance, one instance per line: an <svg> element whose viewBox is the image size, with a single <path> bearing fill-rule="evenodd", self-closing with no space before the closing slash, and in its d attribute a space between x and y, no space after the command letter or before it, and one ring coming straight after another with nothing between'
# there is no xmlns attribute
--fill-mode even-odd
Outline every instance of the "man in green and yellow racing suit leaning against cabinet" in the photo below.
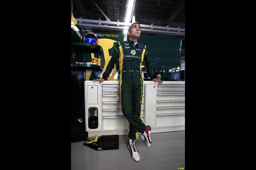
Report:
<svg viewBox="0 0 256 170"><path fill-rule="evenodd" d="M92 80L100 81L99 83L103 82L108 78L117 59L119 59L121 110L126 119L130 122L128 134L129 142L127 147L130 150L132 159L135 161L140 160L140 153L134 145L135 139L138 139L139 133L144 136L147 147L151 146L151 127L146 126L140 119L144 90L141 63L144 62L148 76L152 81L158 82L159 84L163 83L161 80L154 78L154 73L147 57L147 46L138 41L140 32L140 24L133 23L128 29L129 40L120 41L116 44L114 53L109 60L105 72L102 74L102 78Z"/></svg>

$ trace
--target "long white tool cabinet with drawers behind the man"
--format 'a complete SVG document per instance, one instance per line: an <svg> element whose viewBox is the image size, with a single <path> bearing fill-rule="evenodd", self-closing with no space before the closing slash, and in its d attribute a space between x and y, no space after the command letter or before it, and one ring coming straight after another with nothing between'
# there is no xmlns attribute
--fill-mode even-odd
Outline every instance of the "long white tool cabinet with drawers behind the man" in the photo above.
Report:
<svg viewBox="0 0 256 170"><path fill-rule="evenodd" d="M85 130L89 137L128 135L129 122L120 106L119 81L85 81ZM96 108L98 127L90 129L90 109ZM144 81L141 120L151 133L185 130L185 81Z"/></svg>

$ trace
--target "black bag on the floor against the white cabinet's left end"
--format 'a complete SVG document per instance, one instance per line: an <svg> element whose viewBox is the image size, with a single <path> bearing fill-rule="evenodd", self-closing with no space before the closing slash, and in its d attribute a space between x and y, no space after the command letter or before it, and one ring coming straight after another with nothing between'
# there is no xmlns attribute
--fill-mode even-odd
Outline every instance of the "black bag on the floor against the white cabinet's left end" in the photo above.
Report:
<svg viewBox="0 0 256 170"><path fill-rule="evenodd" d="M85 141L88 137L88 132L85 131L85 115L84 112L73 114L71 119L71 142Z"/></svg>

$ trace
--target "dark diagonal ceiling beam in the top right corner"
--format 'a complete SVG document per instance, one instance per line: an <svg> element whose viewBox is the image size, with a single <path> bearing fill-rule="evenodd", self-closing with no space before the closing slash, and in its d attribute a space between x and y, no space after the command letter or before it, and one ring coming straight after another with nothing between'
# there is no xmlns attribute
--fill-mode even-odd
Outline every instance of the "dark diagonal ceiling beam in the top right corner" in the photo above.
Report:
<svg viewBox="0 0 256 170"><path fill-rule="evenodd" d="M166 24L170 25L172 20L180 13L182 8L185 7L185 0L179 0L174 6L170 7L169 11L172 11L165 18Z"/></svg>

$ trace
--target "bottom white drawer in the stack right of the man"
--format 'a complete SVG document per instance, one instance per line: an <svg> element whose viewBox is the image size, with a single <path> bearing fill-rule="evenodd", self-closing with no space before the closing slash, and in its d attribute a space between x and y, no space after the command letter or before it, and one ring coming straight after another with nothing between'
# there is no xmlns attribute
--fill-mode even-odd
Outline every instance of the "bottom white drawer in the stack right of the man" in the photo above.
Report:
<svg viewBox="0 0 256 170"><path fill-rule="evenodd" d="M156 126L158 125L172 125L185 124L185 113L180 114L157 114Z"/></svg>

